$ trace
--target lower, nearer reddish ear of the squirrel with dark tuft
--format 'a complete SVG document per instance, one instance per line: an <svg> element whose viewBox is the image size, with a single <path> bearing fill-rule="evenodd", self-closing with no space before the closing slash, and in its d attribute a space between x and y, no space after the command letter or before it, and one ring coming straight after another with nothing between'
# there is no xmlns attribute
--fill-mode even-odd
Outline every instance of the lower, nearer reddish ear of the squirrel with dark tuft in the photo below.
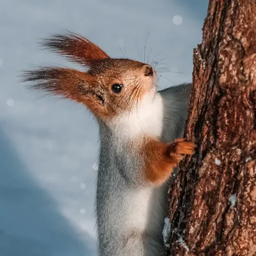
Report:
<svg viewBox="0 0 256 256"><path fill-rule="evenodd" d="M34 82L29 88L60 95L84 104L96 116L106 115L105 95L97 79L72 68L43 67L23 73L23 81Z"/></svg>

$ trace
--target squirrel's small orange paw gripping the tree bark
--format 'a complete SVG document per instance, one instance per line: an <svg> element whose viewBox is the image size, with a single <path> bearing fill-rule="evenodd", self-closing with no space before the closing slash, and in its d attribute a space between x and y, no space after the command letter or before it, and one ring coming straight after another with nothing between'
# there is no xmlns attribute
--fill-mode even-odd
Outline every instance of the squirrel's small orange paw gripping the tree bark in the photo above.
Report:
<svg viewBox="0 0 256 256"><path fill-rule="evenodd" d="M185 155L193 155L196 145L185 139L176 139L168 146L168 156L170 156L177 164Z"/></svg>

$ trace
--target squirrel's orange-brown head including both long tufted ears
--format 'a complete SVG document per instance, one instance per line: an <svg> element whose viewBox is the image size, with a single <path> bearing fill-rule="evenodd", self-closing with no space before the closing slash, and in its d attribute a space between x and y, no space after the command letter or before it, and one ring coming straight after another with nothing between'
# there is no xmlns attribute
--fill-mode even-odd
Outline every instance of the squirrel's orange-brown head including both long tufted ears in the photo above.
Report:
<svg viewBox="0 0 256 256"><path fill-rule="evenodd" d="M106 52L76 34L54 35L43 47L88 67L87 72L72 68L43 67L24 72L29 87L84 104L100 120L131 111L145 95L156 94L156 72L139 61L110 58Z"/></svg>

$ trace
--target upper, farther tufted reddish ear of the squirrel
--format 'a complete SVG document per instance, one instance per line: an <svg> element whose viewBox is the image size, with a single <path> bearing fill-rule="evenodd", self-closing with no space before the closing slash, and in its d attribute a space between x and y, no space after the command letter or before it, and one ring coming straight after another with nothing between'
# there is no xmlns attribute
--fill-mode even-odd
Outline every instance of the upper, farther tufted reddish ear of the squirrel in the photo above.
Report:
<svg viewBox="0 0 256 256"><path fill-rule="evenodd" d="M70 58L72 61L89 65L92 60L109 58L108 54L81 35L52 35L42 42L42 47L49 48Z"/></svg>

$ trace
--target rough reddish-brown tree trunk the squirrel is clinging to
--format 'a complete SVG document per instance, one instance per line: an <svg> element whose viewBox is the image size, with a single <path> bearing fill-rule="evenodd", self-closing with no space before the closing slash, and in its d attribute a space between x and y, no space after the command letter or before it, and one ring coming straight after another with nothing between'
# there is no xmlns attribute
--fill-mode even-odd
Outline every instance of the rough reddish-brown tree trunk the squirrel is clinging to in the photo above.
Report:
<svg viewBox="0 0 256 256"><path fill-rule="evenodd" d="M210 0L164 255L256 255L256 1Z"/></svg>

